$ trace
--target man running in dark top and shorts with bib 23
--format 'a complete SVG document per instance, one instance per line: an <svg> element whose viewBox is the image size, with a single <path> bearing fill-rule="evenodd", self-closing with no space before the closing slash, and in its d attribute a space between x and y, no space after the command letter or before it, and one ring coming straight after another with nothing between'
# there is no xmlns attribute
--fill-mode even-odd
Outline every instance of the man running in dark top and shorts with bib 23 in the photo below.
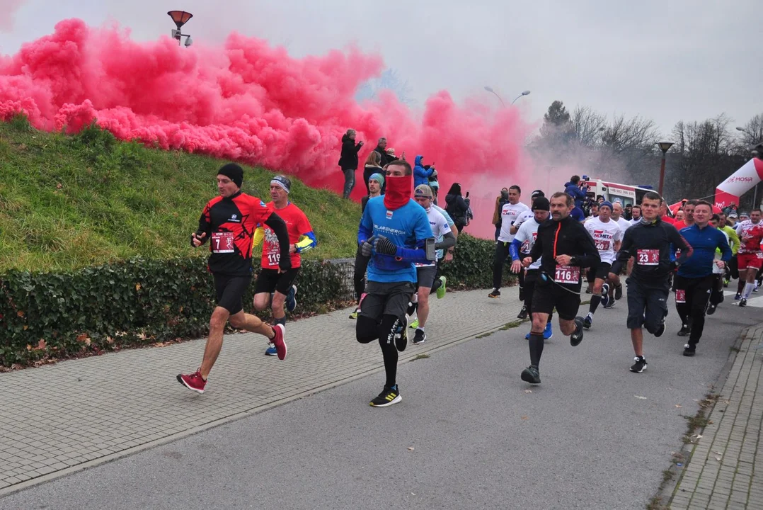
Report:
<svg viewBox="0 0 763 510"><path fill-rule="evenodd" d="M662 198L655 192L646 192L641 202L644 218L639 224L629 228L623 236L623 244L612 264L612 273L620 273L630 257L635 257L633 272L626 280L628 285L628 321L633 351L636 353L631 372L646 370L643 343L646 331L661 337L665 332L665 318L668 316L668 294L670 275L675 266L671 260L671 244L681 249L678 263L691 256L691 246L678 231L658 217Z"/></svg>

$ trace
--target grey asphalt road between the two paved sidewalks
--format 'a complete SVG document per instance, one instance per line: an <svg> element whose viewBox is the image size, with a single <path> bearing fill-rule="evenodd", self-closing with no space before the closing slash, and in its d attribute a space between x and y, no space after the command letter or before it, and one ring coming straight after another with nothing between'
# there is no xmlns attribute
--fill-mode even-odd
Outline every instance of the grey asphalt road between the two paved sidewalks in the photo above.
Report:
<svg viewBox="0 0 763 510"><path fill-rule="evenodd" d="M634 374L625 305L600 309L579 347L552 338L540 386L519 377L526 323L405 363L391 408L368 405L383 384L375 374L0 508L644 508L681 446L682 415L694 415L759 313L727 300L686 358L671 309L665 336L645 337L648 370ZM378 346L338 340L336 356L344 349Z"/></svg>

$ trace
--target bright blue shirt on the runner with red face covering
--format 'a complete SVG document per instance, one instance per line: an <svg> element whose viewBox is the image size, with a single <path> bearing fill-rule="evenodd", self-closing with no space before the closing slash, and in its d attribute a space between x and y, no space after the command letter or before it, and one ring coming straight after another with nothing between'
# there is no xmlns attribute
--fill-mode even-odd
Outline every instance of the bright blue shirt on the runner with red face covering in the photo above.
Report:
<svg viewBox="0 0 763 510"><path fill-rule="evenodd" d="M398 245L398 256L372 253L369 261L369 282L416 282L414 262L427 263L423 247L432 227L427 211L413 200L403 207L388 210L384 195L369 199L358 228L358 243L372 236L384 236Z"/></svg>

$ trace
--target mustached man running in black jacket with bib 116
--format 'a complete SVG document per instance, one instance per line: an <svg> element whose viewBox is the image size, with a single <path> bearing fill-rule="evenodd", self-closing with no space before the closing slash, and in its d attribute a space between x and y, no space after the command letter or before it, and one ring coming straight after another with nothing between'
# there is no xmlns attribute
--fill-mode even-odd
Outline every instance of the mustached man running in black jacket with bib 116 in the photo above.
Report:
<svg viewBox="0 0 763 510"><path fill-rule="evenodd" d="M575 200L567 193L552 195L551 219L538 227L530 257L522 261L527 267L542 257L533 291L530 366L522 371L522 380L532 384L540 383L538 366L543 353L543 329L554 308L559 313L559 329L570 337L570 344L575 347L583 341L583 318L577 317L581 268L596 267L601 259L591 234L570 217L574 207Z"/></svg>

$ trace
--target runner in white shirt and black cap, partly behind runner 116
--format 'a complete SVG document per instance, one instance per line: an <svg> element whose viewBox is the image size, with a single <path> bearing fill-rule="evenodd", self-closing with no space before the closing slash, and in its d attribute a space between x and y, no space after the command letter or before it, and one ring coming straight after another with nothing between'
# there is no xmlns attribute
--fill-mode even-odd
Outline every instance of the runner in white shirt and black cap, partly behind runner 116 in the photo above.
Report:
<svg viewBox="0 0 763 510"><path fill-rule="evenodd" d="M520 226L520 230L511 242L511 272L519 273L525 271L522 267L522 261L520 255L528 257L533 250L536 237L538 235L538 227L547 219L549 219L549 199L545 196L536 197L533 200L533 218L528 221L524 221ZM538 274L540 273L541 259L536 260L526 269L525 274L525 292L524 292L524 305L523 310L526 313L532 313L533 311L533 294L538 281ZM549 320L546 322L546 328L543 329L543 339L548 340L553 336L552 329L552 314L549 314ZM530 333L525 337L525 340L530 340Z"/></svg>

